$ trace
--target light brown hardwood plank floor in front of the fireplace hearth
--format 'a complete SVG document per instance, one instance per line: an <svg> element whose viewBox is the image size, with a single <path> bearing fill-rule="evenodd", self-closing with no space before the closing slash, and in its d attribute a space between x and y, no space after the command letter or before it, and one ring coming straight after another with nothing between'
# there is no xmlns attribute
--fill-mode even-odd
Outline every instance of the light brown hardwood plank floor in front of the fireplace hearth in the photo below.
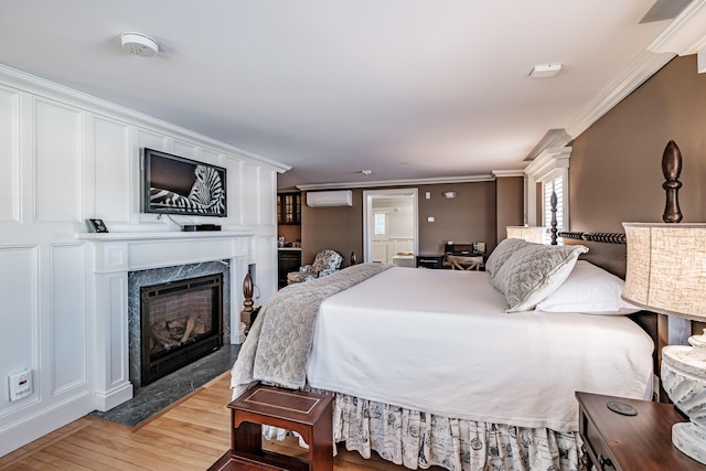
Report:
<svg viewBox="0 0 706 471"><path fill-rule="evenodd" d="M0 470L206 470L231 447L229 373L137 427L85 416L4 457ZM295 440L271 449L306 456ZM440 470L440 468L432 468ZM339 447L336 471L400 471L374 456Z"/></svg>

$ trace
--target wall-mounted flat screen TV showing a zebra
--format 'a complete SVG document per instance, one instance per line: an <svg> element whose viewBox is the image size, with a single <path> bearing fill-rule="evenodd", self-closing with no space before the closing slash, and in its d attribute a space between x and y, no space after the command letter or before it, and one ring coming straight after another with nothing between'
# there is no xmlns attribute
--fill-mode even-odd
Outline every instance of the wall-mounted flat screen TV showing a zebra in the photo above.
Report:
<svg viewBox="0 0 706 471"><path fill-rule="evenodd" d="M227 215L225 170L153 149L145 149L146 213Z"/></svg>

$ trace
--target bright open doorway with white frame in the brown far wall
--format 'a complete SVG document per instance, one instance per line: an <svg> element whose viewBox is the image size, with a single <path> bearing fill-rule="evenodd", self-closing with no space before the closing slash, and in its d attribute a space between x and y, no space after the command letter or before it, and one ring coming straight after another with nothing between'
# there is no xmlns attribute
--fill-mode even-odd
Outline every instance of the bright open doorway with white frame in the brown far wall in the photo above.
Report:
<svg viewBox="0 0 706 471"><path fill-rule="evenodd" d="M409 265L398 254L417 255L417 189L368 190L363 192L364 261ZM414 266L414 265L413 265Z"/></svg>

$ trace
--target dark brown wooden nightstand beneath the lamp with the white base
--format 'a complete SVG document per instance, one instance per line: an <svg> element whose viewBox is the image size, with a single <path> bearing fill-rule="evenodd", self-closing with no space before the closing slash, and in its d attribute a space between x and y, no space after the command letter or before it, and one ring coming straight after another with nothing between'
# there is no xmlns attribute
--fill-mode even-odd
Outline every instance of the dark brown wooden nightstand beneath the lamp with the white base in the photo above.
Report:
<svg viewBox="0 0 706 471"><path fill-rule="evenodd" d="M589 393L576 393L576 398L579 433L597 470L706 470L672 445L672 426L686 421L673 405ZM608 403L613 402L633 407L638 415L610 410Z"/></svg>

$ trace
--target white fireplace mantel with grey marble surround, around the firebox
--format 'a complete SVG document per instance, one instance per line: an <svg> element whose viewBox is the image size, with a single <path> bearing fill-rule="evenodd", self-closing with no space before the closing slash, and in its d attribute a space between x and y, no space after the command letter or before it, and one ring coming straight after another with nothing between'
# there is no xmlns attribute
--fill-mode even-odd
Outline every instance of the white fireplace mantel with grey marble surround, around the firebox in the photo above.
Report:
<svg viewBox="0 0 706 471"><path fill-rule="evenodd" d="M140 288L223 274L223 342L239 343L238 286L248 271L253 234L247 231L78 234L90 243L96 312L95 408L106 411L141 385ZM271 242L271 240L270 240ZM235 325L235 329L232 327Z"/></svg>

